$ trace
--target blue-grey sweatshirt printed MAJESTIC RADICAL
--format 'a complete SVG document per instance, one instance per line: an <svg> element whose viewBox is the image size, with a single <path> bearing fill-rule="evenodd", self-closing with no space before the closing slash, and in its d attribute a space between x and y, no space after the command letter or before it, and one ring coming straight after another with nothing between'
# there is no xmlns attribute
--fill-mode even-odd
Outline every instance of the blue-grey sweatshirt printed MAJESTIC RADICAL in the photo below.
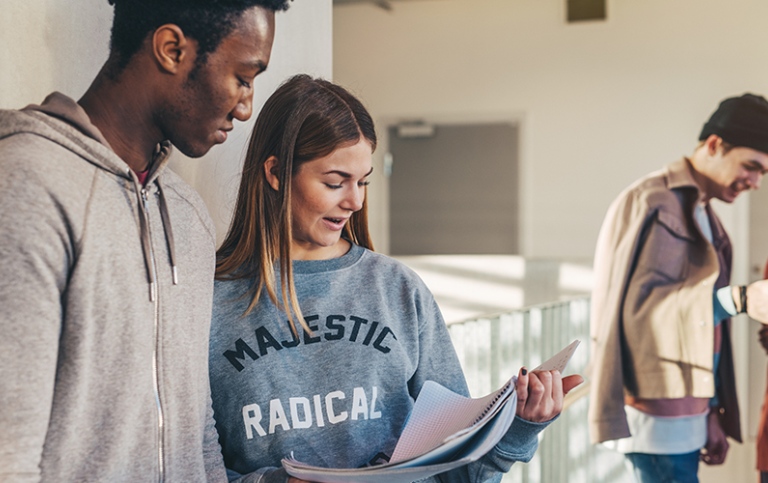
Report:
<svg viewBox="0 0 768 483"><path fill-rule="evenodd" d="M266 295L243 317L253 280L214 288L211 389L231 479L285 482L280 460L291 452L325 467L387 462L425 381L468 394L442 315L412 270L359 246L293 264L313 335L294 337ZM518 419L480 461L432 480L499 481L530 460L546 425Z"/></svg>

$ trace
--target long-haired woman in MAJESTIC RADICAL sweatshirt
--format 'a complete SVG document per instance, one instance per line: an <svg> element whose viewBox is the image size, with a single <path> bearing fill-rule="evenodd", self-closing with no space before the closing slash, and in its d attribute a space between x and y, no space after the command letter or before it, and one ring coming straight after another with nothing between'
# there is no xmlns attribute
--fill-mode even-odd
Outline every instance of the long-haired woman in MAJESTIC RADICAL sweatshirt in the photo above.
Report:
<svg viewBox="0 0 768 483"><path fill-rule="evenodd" d="M468 394L430 291L372 251L375 148L363 105L306 75L284 83L256 121L218 252L211 329L213 406L231 478L297 481L280 467L291 452L327 467L386 462L425 381ZM488 455L435 481L498 480L528 461L580 382L522 369L520 419Z"/></svg>

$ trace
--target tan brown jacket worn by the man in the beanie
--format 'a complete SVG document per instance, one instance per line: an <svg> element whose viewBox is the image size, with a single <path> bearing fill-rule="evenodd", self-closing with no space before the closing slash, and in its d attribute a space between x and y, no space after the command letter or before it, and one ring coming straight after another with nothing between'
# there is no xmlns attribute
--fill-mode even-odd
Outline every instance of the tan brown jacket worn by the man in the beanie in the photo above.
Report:
<svg viewBox="0 0 768 483"><path fill-rule="evenodd" d="M693 214L700 197L681 159L631 185L608 209L590 321L594 443L630 435L625 395L715 394L713 290L728 284L731 249L711 210L713 243L702 235ZM718 397L726 434L741 441L729 327L724 321Z"/></svg>

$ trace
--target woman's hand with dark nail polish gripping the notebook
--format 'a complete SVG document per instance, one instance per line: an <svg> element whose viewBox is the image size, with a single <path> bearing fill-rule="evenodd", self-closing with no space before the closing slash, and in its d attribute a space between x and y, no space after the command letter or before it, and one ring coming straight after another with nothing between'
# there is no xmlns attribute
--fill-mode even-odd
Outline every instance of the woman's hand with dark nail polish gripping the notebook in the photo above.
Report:
<svg viewBox="0 0 768 483"><path fill-rule="evenodd" d="M517 416L535 423L549 421L563 410L563 398L584 382L578 374L562 377L560 371L533 371L523 367L517 376Z"/></svg>

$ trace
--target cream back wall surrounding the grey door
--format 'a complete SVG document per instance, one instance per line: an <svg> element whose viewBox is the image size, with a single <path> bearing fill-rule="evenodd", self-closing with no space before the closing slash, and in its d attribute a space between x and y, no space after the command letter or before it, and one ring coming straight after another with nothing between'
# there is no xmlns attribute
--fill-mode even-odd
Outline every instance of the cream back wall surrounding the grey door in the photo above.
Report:
<svg viewBox="0 0 768 483"><path fill-rule="evenodd" d="M370 197L374 241L385 251L388 124L519 120L521 185L511 189L521 197L522 254L590 260L621 189L690 154L722 98L768 95L768 2L761 0L608 0L607 21L579 24L565 22L564 0L392 5L335 7L333 37L335 81L362 98L384 138ZM715 209L734 242L733 280L743 283L750 276L749 199ZM752 219L764 220L764 209L753 205ZM726 475L753 481L752 437L765 384L755 331L743 316L735 320L750 442L732 446L726 467L703 471L704 482Z"/></svg>

